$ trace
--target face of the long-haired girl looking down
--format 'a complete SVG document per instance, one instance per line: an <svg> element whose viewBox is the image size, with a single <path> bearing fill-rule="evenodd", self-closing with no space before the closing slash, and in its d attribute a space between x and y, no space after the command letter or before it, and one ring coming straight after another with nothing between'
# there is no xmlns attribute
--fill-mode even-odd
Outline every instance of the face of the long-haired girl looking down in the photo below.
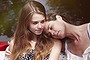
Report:
<svg viewBox="0 0 90 60"><path fill-rule="evenodd" d="M36 35L40 35L44 29L45 17L42 14L34 13L30 21L30 31Z"/></svg>

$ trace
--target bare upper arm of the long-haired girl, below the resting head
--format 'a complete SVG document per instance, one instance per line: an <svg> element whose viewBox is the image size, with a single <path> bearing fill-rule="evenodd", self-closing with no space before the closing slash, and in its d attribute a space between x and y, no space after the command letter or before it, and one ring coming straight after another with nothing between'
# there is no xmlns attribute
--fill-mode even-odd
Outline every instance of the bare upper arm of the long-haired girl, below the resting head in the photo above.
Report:
<svg viewBox="0 0 90 60"><path fill-rule="evenodd" d="M54 40L54 45L52 47L52 51L50 53L49 60L59 60L62 43L60 40Z"/></svg>

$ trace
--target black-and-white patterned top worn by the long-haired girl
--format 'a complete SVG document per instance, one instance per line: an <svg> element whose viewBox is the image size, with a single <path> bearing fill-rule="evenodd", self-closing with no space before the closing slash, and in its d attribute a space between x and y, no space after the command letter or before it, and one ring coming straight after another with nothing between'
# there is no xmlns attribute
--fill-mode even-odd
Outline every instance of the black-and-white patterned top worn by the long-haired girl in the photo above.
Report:
<svg viewBox="0 0 90 60"><path fill-rule="evenodd" d="M48 54L44 60L48 60L49 59L49 55ZM34 60L34 50L30 50L27 54L26 53L23 53L19 56L19 60Z"/></svg>

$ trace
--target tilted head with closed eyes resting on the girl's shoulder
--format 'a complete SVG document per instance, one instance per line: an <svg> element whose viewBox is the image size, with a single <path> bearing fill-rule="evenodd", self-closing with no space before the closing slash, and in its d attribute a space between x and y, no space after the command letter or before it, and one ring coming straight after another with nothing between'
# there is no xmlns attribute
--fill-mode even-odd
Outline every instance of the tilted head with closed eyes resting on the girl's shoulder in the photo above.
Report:
<svg viewBox="0 0 90 60"><path fill-rule="evenodd" d="M62 16L51 14L48 21L45 22L45 29L47 35L53 38L62 39L65 37L65 22Z"/></svg>

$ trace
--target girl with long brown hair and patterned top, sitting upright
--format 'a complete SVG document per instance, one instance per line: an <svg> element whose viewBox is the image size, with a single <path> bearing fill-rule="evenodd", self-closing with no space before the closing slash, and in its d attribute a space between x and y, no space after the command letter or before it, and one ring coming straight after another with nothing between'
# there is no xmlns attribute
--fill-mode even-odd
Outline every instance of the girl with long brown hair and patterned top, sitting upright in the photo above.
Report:
<svg viewBox="0 0 90 60"><path fill-rule="evenodd" d="M59 60L61 42L43 33L45 20L44 6L36 1L28 2L21 10L6 57L10 60Z"/></svg>

